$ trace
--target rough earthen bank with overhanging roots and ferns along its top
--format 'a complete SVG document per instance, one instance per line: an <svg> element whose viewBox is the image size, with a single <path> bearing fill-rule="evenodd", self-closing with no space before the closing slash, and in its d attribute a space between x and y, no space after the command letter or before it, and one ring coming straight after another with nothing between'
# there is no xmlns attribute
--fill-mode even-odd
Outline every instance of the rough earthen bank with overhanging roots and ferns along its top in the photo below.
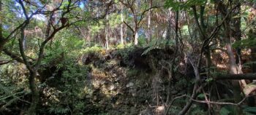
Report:
<svg viewBox="0 0 256 115"><path fill-rule="evenodd" d="M163 114L166 102L187 92L184 88L188 84L186 79L172 82L167 67L173 59L172 49L152 49L143 54L145 50L84 55L83 63L90 66L87 87L92 89L87 100L108 114Z"/></svg>

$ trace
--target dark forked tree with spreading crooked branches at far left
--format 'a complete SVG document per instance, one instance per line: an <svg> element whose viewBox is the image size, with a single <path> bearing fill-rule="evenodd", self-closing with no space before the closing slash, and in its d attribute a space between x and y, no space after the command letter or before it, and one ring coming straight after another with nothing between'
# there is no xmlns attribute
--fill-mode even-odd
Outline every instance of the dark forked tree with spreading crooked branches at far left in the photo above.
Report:
<svg viewBox="0 0 256 115"><path fill-rule="evenodd" d="M4 52L7 55L10 55L14 60L17 60L20 63L24 63L26 65L26 68L29 70L29 88L31 90L31 105L28 111L28 114L36 114L37 113L37 104L39 103L39 92L37 89L37 83L35 81L37 77L37 73L39 71L41 62L44 58L44 50L46 45L48 44L48 41L53 40L54 36L56 33L61 31L64 28L70 27L71 25L75 25L76 23L79 23L84 20L88 20L86 18L88 17L83 17L85 19L80 19L79 15L72 15L72 11L75 9L79 9L79 0L78 1L61 1L59 3L59 6L54 7L51 10L44 10L45 6L47 4L43 4L42 6L35 6L34 4L31 4L29 1L22 1L18 0L17 3L20 4L21 10L23 12L23 15L25 17L25 21L21 25L19 25L17 28L15 28L14 31L10 33L6 38L4 38L1 35L1 49L4 50ZM26 9L26 5L29 5L30 7L34 7L34 9ZM32 12L32 13L29 13ZM61 12L59 15L54 15L56 12ZM31 23L31 18L34 15L48 15L48 25L47 29L45 32L45 39L40 43L39 45L39 52L37 52L37 59L32 59L29 58L26 55L26 52L24 50L24 38L25 38L25 29L26 27ZM53 15L54 15L54 21L53 21ZM75 20L72 18L76 17ZM93 20L93 19L90 19ZM50 22L50 24L49 24ZM20 49L20 55L22 58L20 58L18 55L15 55L14 53L8 51L8 49L4 49L4 44L7 43L7 41L10 41L10 37L12 34L20 31L20 39L19 39L19 49ZM2 31L1 31L2 32Z"/></svg>

